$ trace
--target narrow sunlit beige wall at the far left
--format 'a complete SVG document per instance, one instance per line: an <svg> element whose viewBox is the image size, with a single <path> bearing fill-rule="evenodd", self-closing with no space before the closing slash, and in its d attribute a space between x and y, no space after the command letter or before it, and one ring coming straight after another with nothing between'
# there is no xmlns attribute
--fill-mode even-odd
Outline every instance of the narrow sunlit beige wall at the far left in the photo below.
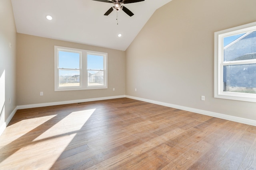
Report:
<svg viewBox="0 0 256 170"><path fill-rule="evenodd" d="M16 107L15 96L16 27L11 0L0 0L0 134Z"/></svg>

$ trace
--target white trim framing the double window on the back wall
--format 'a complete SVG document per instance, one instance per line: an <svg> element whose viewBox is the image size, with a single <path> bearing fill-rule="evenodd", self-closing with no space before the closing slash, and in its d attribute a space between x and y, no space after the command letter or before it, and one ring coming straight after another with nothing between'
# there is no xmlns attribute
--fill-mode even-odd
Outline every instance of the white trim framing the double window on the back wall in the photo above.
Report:
<svg viewBox="0 0 256 170"><path fill-rule="evenodd" d="M59 72L58 72L58 51L68 51L80 53L80 86L59 87ZM88 86L87 78L87 54L103 55L104 56L104 77L105 84L102 86ZM68 91L68 90L93 90L108 88L108 53L89 51L84 49L75 49L69 47L61 47L54 45L54 91Z"/></svg>

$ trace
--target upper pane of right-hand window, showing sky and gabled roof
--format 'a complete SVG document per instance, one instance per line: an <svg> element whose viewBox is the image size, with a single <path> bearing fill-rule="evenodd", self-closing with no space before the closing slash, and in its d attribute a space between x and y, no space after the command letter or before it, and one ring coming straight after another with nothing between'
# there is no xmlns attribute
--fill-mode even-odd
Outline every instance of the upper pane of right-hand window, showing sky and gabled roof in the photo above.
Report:
<svg viewBox="0 0 256 170"><path fill-rule="evenodd" d="M256 31L224 38L224 61L250 59L256 59Z"/></svg>

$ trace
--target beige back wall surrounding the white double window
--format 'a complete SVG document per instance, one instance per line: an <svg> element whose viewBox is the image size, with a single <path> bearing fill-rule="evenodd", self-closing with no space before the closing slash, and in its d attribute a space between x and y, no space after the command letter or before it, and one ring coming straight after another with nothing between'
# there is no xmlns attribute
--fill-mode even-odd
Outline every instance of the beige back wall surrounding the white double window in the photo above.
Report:
<svg viewBox="0 0 256 170"><path fill-rule="evenodd" d="M54 45L108 53L108 89L54 92ZM17 33L18 106L120 95L125 95L124 51Z"/></svg>

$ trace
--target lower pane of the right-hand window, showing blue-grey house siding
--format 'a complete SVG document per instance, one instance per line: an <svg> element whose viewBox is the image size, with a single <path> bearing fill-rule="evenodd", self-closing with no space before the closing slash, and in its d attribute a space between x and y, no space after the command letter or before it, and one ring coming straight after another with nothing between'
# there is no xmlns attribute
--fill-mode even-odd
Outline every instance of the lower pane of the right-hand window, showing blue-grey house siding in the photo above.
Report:
<svg viewBox="0 0 256 170"><path fill-rule="evenodd" d="M226 92L256 94L256 64L224 66L223 85Z"/></svg>

